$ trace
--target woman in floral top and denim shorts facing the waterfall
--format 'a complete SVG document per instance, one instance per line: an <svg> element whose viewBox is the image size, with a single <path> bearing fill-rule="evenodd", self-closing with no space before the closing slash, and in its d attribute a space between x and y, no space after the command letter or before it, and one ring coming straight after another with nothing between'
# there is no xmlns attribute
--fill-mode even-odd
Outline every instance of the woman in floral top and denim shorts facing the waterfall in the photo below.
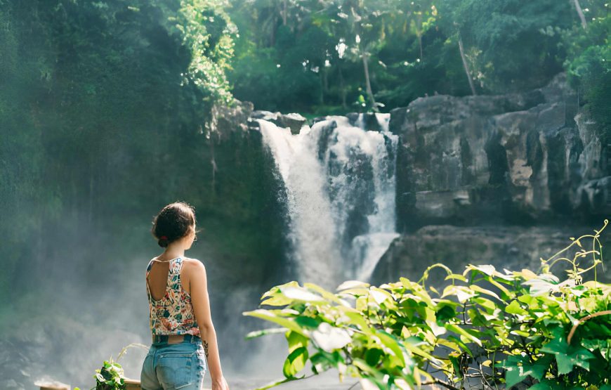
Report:
<svg viewBox="0 0 611 390"><path fill-rule="evenodd" d="M206 373L212 390L229 390L212 325L206 268L185 257L197 239L195 210L168 204L153 219L152 234L165 251L146 268L152 344L140 372L143 390L199 390Z"/></svg>

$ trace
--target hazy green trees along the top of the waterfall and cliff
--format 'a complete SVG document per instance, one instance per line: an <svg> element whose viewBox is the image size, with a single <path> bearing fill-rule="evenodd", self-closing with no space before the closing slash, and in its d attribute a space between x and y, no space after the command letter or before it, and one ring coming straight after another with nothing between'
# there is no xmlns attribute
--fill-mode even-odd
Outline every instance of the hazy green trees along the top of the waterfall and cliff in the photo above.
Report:
<svg viewBox="0 0 611 390"><path fill-rule="evenodd" d="M235 95L258 109L305 114L326 113L325 106L374 110L369 74L376 106L390 110L434 93L471 93L460 34L477 93L525 91L562 70L577 72L583 65L571 63L582 55L581 62L605 58L589 48L609 47L593 39L598 33L607 38L608 28L596 26L608 25L607 5L579 3L586 30L572 1L235 1L228 13L241 34L229 77ZM584 89L597 101L608 99L608 89L597 85Z"/></svg>

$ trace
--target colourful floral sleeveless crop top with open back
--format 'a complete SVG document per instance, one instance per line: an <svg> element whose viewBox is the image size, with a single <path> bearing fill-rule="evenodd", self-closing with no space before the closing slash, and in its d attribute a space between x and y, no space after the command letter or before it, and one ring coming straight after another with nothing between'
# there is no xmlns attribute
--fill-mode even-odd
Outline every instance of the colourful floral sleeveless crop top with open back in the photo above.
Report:
<svg viewBox="0 0 611 390"><path fill-rule="evenodd" d="M191 306L191 297L180 282L180 269L183 267L183 258L171 259L166 294L159 301L155 301L150 294L148 274L152 263L151 259L146 268L146 292L148 295L150 330L152 334L194 334L199 336L199 327L195 321L195 314Z"/></svg>

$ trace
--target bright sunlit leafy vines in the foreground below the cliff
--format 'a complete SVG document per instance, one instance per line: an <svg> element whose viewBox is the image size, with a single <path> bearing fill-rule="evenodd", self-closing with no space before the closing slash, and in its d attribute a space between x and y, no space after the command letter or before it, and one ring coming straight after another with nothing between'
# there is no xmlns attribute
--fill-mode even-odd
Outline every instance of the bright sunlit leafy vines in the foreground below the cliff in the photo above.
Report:
<svg viewBox="0 0 611 390"><path fill-rule="evenodd" d="M261 389L303 379L308 360L313 375L336 368L365 389L463 389L474 378L485 388L608 389L611 285L596 281L607 223L541 259L539 273L469 265L456 274L435 264L418 282L350 280L336 293L307 282L272 287L261 297L268 308L244 313L280 326L247 337L284 332L289 346L285 378ZM570 264L563 280L551 273L560 263ZM435 268L447 273L442 289L426 285Z"/></svg>

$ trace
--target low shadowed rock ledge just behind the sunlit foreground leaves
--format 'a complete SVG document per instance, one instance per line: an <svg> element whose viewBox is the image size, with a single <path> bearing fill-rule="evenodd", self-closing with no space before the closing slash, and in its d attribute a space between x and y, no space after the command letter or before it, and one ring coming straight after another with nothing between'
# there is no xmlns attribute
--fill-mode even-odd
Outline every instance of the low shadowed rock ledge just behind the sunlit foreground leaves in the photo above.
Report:
<svg viewBox="0 0 611 390"><path fill-rule="evenodd" d="M600 228L600 226L595 226ZM419 280L428 266L442 263L454 273L462 273L468 264L492 264L497 270L520 271L528 268L537 271L539 258L548 259L570 244L570 237L593 234L590 227L558 228L539 226L425 226L414 233L395 239L382 256L372 276L372 283L399 280ZM611 235L601 235L603 248L611 243ZM588 241L591 245L591 241ZM574 245L574 248L577 246ZM577 248L578 249L578 248ZM604 250L604 249L603 249ZM572 259L572 254L570 256ZM582 268L591 265L591 257L580 260ZM557 264L551 271L566 278L565 264ZM431 271L427 285L441 287L447 273L441 269ZM584 275L591 280L593 275ZM611 282L611 273L598 268L598 280Z"/></svg>

